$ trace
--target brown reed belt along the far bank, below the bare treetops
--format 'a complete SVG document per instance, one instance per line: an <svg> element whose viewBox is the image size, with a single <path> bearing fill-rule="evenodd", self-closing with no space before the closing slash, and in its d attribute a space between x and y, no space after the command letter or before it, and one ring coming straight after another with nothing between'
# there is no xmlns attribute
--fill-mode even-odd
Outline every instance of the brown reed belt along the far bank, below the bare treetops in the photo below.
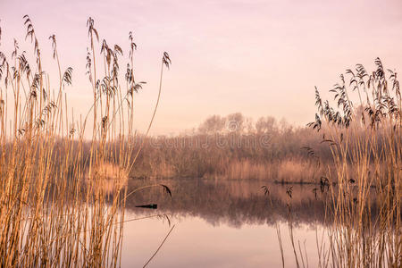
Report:
<svg viewBox="0 0 402 268"><path fill-rule="evenodd" d="M142 139L138 137L137 143ZM322 163L331 161L326 156L331 151L320 144L321 135L306 128L260 133L197 131L145 140L132 177L313 183L325 174L316 157ZM314 155L309 155L306 146L314 147Z"/></svg>

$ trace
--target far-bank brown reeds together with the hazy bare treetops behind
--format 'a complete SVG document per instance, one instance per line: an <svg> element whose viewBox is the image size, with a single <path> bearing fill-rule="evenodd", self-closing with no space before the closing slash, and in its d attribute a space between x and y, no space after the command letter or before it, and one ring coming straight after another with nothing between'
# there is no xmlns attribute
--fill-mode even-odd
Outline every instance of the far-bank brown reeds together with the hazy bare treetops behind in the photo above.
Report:
<svg viewBox="0 0 402 268"><path fill-rule="evenodd" d="M359 117L357 107L353 116ZM270 180L278 183L320 184L322 178L334 178L336 167L331 142L322 132L331 126L322 124L320 132L308 127L292 127L273 118L261 118L255 123L248 120L247 129L241 126L246 117L234 113L231 121L234 130L222 127L228 124L225 117L214 115L203 122L198 130L172 137L137 137L136 143L145 140L138 156L137 168L130 176L137 178L205 178L219 180ZM264 125L268 125L263 128ZM356 139L364 138L356 130L353 138L344 140L354 147ZM378 149L382 150L381 132L373 132ZM371 153L372 154L372 153ZM373 157L366 167L374 172ZM355 178L359 163L347 159L348 177ZM331 176L328 174L331 173ZM337 183L336 180L332 182Z"/></svg>

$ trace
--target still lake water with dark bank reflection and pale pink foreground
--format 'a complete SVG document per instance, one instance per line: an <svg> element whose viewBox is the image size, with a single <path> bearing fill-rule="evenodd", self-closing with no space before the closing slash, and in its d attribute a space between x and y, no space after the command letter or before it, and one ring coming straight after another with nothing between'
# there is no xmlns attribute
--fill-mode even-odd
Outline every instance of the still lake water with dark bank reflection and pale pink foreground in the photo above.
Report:
<svg viewBox="0 0 402 268"><path fill-rule="evenodd" d="M285 267L295 267L289 223L301 266L318 266L317 244L327 247L325 206L315 196L316 186L290 188L260 180L130 180L129 192L154 183L171 188L172 198L163 188L146 188L128 198L122 267L146 264L173 226L147 267L281 267L278 231ZM136 207L148 204L157 204L157 209Z"/></svg>

